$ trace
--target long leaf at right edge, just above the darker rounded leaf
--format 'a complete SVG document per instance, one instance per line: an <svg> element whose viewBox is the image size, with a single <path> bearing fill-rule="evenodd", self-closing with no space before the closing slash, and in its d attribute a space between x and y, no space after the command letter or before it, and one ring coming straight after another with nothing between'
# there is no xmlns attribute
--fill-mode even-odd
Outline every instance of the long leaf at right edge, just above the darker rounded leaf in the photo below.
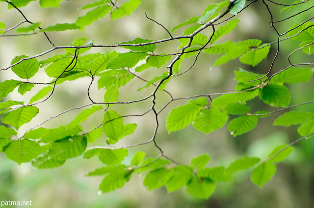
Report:
<svg viewBox="0 0 314 208"><path fill-rule="evenodd" d="M289 68L270 79L270 82L295 84L299 82L307 82L312 78L312 68Z"/></svg>

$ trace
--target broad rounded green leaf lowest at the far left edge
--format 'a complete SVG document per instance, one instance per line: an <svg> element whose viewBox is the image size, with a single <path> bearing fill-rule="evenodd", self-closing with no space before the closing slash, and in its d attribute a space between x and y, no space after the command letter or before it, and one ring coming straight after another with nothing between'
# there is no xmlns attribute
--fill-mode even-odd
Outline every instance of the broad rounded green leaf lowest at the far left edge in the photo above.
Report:
<svg viewBox="0 0 314 208"><path fill-rule="evenodd" d="M19 165L23 162L29 162L41 153L39 144L28 139L11 141L7 146L3 147L5 156Z"/></svg>

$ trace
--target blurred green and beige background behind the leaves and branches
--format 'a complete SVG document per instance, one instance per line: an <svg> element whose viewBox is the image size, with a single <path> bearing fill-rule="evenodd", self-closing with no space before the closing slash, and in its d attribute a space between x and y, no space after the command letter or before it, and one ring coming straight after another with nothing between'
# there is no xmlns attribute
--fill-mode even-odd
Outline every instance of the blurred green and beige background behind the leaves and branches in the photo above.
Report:
<svg viewBox="0 0 314 208"><path fill-rule="evenodd" d="M60 8L45 8L39 6L38 1L30 2L28 6L21 8L31 22L41 22L41 27L47 27L56 23L74 23L76 18L86 11L78 10L79 7L91 2L89 0L64 0ZM118 4L124 2L118 1ZM142 5L130 16L121 20L110 21L108 16L98 20L90 26L86 26L83 32L71 30L64 32L48 33L56 46L70 45L76 38L87 37L94 39L94 44L115 44L122 41L133 40L136 37L158 40L168 38L167 32L156 23L148 20L148 17L156 20L169 30L191 16L201 16L209 3L221 2L219 0L143 0ZM280 13L283 6L272 4L269 1L274 20L281 20L302 9L313 6L313 2L304 3L288 13ZM292 3L292 0L278 0L280 3ZM7 3L0 2L0 22L6 27L15 26L23 21L18 11L7 10ZM313 10L313 9L312 9ZM276 24L280 33L288 30L296 23L302 23L313 16L313 11L297 15L283 23ZM220 43L226 40L241 41L245 39L261 39L263 43L271 43L277 40L277 34L270 28L271 21L267 8L262 0L251 5L236 18L240 22L236 29L224 36ZM179 29L173 35L182 34ZM210 35L211 30L203 32ZM9 33L8 33L9 34ZM10 34L14 34L11 32ZM280 54L274 64L273 71L277 72L288 66L287 55L298 47L297 41L283 41L280 46ZM156 53L177 52L178 41L160 44ZM27 36L0 37L0 68L8 66L16 55L35 55L51 49L42 34ZM115 48L91 49L89 52L106 52L126 50ZM201 53L195 66L181 77L172 78L165 88L174 96L187 97L196 94L209 94L216 92L234 91L236 82L234 78L235 67L264 74L268 71L270 63L276 53L277 46L271 47L267 59L256 67L241 64L238 60L232 60L228 64L213 67L215 59L219 56ZM57 51L49 54L62 54ZM39 60L49 57L43 56ZM313 55L297 52L293 61L299 63L313 62ZM193 59L183 62L184 71L192 63ZM139 76L151 79L161 75L167 68L152 68L140 73ZM0 72L0 81L5 79L18 79L10 70ZM34 78L37 80L49 80L44 73L39 72ZM60 85L52 99L38 105L41 111L31 122L21 127L19 134L38 123L71 107L88 104L86 90L90 80L79 79L73 83ZM139 79L134 78L120 90L119 100L130 101L142 98L150 94L153 88L140 92L136 90L145 85ZM104 91L98 90L96 83L92 85L92 97L101 101ZM311 101L314 98L314 81L307 83L288 85L291 91L291 104ZM40 87L38 88L38 90ZM28 100L36 93L36 88L26 93L24 97L17 92L11 93L8 99ZM164 92L157 93L157 107L163 106L169 101L169 96ZM256 129L241 136L233 137L225 126L221 130L208 135L194 130L191 126L178 132L168 134L165 129L165 118L172 107L185 104L187 100L180 100L168 105L160 115L160 128L157 134L157 144L163 149L166 156L173 158L178 163L188 164L189 161L200 154L209 154L210 167L227 166L230 162L242 156L258 156L265 158L271 150L280 144L288 144L300 136L296 127L284 128L272 126L273 121L281 114L277 113L267 118L260 119ZM139 114L150 107L150 101L140 104L115 105L112 109L121 115ZM258 100L249 102L252 112L257 110L274 110ZM310 110L314 112L313 104L302 105L293 110ZM56 125L68 124L80 111L70 111L56 119L47 122L43 127L53 128ZM94 115L84 122L84 129L91 129L102 122L102 117ZM134 135L128 136L117 145L134 144L150 139L155 128L154 117L148 113L143 117L130 117L125 123L138 123ZM106 145L105 135L102 135L96 145ZM194 199L183 189L168 194L165 188L147 191L142 182L144 175L133 175L130 182L122 189L117 189L108 194L98 194L98 185L102 177L85 177L89 171L102 167L97 160L82 159L82 156L69 159L63 166L54 169L34 170L31 164L19 166L0 153L0 201L32 201L33 208L314 208L314 138L297 143L293 153L282 163L278 164L274 178L266 183L262 189L250 181L251 170L241 171L234 176L233 182L218 183L216 191L208 200ZM147 152L147 156L157 156L158 150L153 144L129 149L129 157L136 151Z"/></svg>

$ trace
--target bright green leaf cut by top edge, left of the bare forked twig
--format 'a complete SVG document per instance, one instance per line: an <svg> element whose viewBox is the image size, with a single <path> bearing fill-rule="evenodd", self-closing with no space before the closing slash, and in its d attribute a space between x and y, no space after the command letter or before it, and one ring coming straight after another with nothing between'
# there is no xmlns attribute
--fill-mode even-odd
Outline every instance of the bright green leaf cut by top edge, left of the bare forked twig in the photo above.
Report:
<svg viewBox="0 0 314 208"><path fill-rule="evenodd" d="M123 3L119 8L115 8L110 17L112 20L120 19L126 15L131 15L133 11L142 3L141 0L130 0Z"/></svg>

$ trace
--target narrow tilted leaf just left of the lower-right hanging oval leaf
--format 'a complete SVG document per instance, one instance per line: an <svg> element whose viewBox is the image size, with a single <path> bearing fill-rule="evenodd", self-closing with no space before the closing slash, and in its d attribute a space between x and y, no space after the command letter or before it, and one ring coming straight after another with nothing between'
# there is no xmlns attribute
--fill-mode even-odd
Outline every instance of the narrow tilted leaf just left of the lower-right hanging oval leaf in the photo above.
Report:
<svg viewBox="0 0 314 208"><path fill-rule="evenodd" d="M228 168L226 169L226 172L232 174L232 173L235 173L235 172L240 171L240 170L245 170L245 169L248 169L250 167L253 167L254 165L259 163L260 161L261 161L261 159L258 157L244 156L241 159L237 159L234 162L232 162L228 166Z"/></svg>

